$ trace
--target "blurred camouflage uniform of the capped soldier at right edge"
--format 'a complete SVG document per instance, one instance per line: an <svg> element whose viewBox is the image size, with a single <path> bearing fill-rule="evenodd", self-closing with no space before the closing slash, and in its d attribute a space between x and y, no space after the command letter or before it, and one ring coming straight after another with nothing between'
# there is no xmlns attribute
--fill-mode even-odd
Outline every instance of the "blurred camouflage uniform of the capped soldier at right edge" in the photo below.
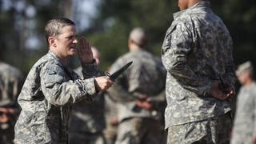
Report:
<svg viewBox="0 0 256 144"><path fill-rule="evenodd" d="M256 136L256 83L242 86L238 93L232 144L252 144Z"/></svg>

